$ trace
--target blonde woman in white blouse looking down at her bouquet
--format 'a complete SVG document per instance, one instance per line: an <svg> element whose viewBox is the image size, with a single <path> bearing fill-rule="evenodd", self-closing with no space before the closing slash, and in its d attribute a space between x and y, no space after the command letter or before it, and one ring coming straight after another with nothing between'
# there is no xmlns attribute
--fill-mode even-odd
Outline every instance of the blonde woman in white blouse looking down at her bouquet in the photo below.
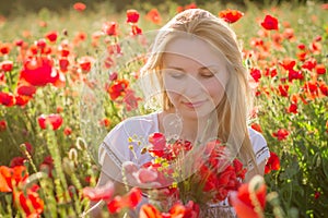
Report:
<svg viewBox="0 0 328 218"><path fill-rule="evenodd" d="M269 149L262 135L247 126L247 71L235 33L224 21L201 9L177 14L160 29L141 72L143 85L156 88L151 95L159 94L162 110L127 119L108 133L99 147L98 185L112 180L124 186L124 162L138 169L150 161L140 144L155 132L192 144L219 138L247 167L244 182L263 174ZM132 180L128 184L136 185ZM235 216L227 201L207 205L201 217Z"/></svg>

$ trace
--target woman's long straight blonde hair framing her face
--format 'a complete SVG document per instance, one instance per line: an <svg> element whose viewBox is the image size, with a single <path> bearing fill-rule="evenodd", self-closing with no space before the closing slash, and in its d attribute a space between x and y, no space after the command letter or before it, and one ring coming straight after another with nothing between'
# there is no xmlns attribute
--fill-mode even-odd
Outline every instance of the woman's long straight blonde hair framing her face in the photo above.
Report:
<svg viewBox="0 0 328 218"><path fill-rule="evenodd" d="M225 95L216 107L218 137L229 143L242 161L247 166L251 164L258 172L247 130L248 110L251 105L247 70L243 65L242 50L236 35L223 20L201 9L190 9L177 14L160 29L141 73L156 75L156 80L163 88L160 73L162 57L166 45L173 38L180 36L180 33L198 36L225 57L230 80L225 86ZM162 90L161 106L163 110L167 110L173 105L164 88Z"/></svg>

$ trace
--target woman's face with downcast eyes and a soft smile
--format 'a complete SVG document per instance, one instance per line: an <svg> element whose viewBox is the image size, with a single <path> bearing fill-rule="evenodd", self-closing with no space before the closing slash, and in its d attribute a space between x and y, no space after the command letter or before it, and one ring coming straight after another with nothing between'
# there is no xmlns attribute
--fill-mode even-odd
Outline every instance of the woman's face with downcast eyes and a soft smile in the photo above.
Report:
<svg viewBox="0 0 328 218"><path fill-rule="evenodd" d="M184 118L209 116L221 101L229 81L223 56L199 38L176 38L163 55L164 88Z"/></svg>

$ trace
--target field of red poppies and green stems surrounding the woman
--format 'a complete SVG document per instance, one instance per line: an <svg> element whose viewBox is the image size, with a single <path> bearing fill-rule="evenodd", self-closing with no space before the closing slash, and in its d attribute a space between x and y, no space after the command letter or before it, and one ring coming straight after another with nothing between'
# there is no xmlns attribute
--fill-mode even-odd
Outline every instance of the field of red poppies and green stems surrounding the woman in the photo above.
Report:
<svg viewBox="0 0 328 218"><path fill-rule="evenodd" d="M112 184L94 189L97 148L117 123L152 111L140 68L155 31L190 8L236 32L255 97L249 125L271 154L263 180L232 195L238 216L328 216L327 3L144 2L117 13L109 3L78 2L58 14L0 16L0 218L87 217L90 199L103 199L106 216L136 207L138 189L122 196ZM195 202L165 211L148 205L139 215L197 216Z"/></svg>

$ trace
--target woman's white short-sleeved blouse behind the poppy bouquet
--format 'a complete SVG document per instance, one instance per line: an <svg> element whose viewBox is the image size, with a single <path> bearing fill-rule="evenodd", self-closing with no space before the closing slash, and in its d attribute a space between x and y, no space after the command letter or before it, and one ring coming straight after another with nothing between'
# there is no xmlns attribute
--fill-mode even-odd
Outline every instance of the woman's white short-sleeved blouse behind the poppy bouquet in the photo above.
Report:
<svg viewBox="0 0 328 218"><path fill-rule="evenodd" d="M98 150L98 161L103 166L105 156L107 155L113 162L121 169L122 162L132 161L138 167L152 160L152 156L149 153L141 153L141 149L149 144L148 136L152 133L160 132L159 128L159 112L153 112L150 114L132 117L124 120L117 124L104 138L104 142L99 146ZM257 131L248 128L250 142L253 144L254 153L256 156L256 161L259 165L269 158L270 153L267 146L265 137ZM131 146L132 150L131 152ZM103 166L103 169L107 168L106 174L112 179L120 178L117 172L110 174L110 166ZM226 205L226 206L225 206ZM218 206L229 207L230 213L233 210L229 204L227 199L220 204L209 205L208 213L213 214L212 216L218 216L218 211L213 210ZM215 209L214 209L215 210ZM222 208L221 208L222 210ZM207 217L212 217L207 214ZM232 211L235 215L234 211ZM234 216L231 216L234 217Z"/></svg>

